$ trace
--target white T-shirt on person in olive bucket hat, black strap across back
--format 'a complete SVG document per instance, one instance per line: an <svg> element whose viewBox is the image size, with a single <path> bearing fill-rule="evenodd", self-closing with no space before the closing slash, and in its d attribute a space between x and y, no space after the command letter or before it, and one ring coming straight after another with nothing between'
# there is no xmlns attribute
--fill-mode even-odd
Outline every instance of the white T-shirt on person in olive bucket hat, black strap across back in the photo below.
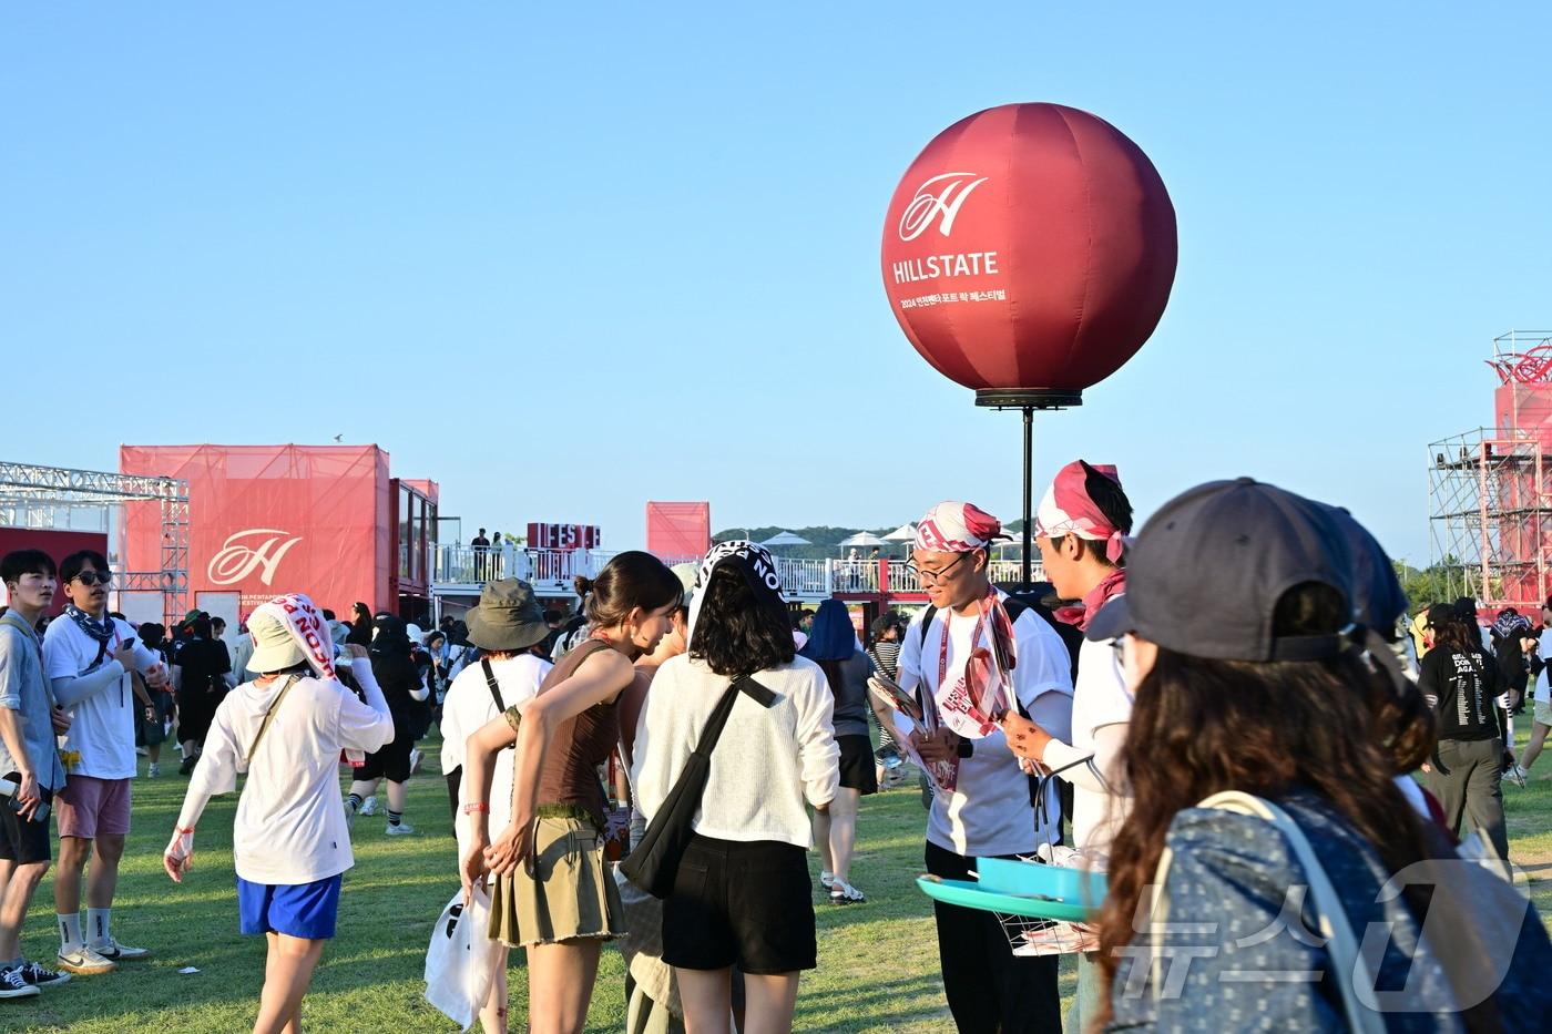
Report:
<svg viewBox="0 0 1552 1034"><path fill-rule="evenodd" d="M501 688L501 700L509 708L521 711L529 700L539 696L539 685L554 668L549 661L520 654L518 657L501 657L490 661L490 674L495 675L497 686ZM442 699L442 772L452 772L464 764L467 756L467 741L481 725L501 717L501 708L490 696L486 685L484 666L478 661L469 664L447 688ZM490 835L498 837L512 823L512 762L517 756L515 747L508 747L495 756L495 767L490 772ZM458 837L458 857L469 846L470 832L469 815L464 815L464 803L469 800L469 781L458 784L458 814L453 817L453 834Z"/></svg>

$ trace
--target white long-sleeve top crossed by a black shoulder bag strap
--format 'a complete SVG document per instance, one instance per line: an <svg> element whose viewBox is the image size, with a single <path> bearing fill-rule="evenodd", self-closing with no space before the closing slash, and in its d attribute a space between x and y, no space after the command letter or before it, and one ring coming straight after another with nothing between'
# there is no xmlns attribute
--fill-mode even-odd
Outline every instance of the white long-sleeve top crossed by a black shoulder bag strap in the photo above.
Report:
<svg viewBox="0 0 1552 1034"><path fill-rule="evenodd" d="M807 804L827 804L840 786L835 702L824 672L796 657L754 680L776 694L760 706L740 692L711 753L695 832L715 840L779 840L812 846ZM703 661L675 657L652 680L636 722L632 786L649 818L667 798L700 742L728 678Z"/></svg>

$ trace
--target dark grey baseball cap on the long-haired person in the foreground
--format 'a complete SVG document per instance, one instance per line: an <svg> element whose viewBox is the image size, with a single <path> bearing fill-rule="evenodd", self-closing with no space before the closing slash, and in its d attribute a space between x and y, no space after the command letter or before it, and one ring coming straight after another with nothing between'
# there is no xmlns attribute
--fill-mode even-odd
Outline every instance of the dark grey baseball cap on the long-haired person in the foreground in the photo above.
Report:
<svg viewBox="0 0 1552 1034"><path fill-rule="evenodd" d="M1353 559L1330 509L1252 478L1176 495L1127 550L1127 590L1090 623L1090 640L1136 632L1214 660L1321 660L1347 637L1273 633L1277 601L1319 582L1352 607Z"/></svg>

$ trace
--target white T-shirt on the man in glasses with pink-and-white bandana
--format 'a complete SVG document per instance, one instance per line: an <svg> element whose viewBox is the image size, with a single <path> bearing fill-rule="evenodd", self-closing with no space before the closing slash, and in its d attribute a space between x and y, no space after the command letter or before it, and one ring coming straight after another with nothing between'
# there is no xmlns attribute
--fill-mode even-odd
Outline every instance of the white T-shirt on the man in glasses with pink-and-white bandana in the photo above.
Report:
<svg viewBox="0 0 1552 1034"><path fill-rule="evenodd" d="M998 592L1004 601L1007 593ZM906 691L923 678L937 678L937 658L944 641L944 626L948 635L948 669L945 680L954 683L964 672L965 658L975 644L978 615L954 615L939 610L922 643L923 610L911 619L900 643L897 682ZM989 632L981 643L990 644ZM1032 609L1018 615L1013 623L1018 664L1013 668L1013 691L1029 711L1029 717L1057 739L1071 742L1072 723L1072 677L1066 644L1044 619ZM1029 803L1029 776L1018 767L1018 758L1007 748L1007 739L995 731L984 739L972 741L975 753L959 761L959 779L953 793L933 795L933 809L927 818L928 841L965 857L992 857L1001 854L1031 854L1055 837L1054 824L1062 820L1055 779L1046 787L1046 815L1051 829L1035 831L1035 814Z"/></svg>

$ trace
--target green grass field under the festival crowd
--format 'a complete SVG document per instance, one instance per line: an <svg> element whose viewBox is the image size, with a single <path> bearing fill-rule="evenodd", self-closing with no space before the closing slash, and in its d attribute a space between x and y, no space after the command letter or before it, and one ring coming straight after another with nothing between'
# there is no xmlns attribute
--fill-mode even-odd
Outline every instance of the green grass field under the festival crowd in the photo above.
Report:
<svg viewBox="0 0 1552 1034"><path fill-rule="evenodd" d="M1523 739L1523 736L1521 736ZM324 953L303 1005L314 1031L455 1031L425 1005L421 981L430 927L456 891L456 860L447 796L427 769L410 784L407 820L414 837L388 838L380 817L355 826L355 868L345 877L338 935ZM1552 764L1530 787L1505 787L1513 859L1532 880L1536 905L1552 911ZM0 1001L0 1031L182 1034L247 1031L262 981L264 942L237 935L231 871L236 795L217 798L200 821L194 871L174 885L161 871L186 781L177 775L135 782L135 832L123 865L113 924L127 944L155 952L115 973L76 977L37 998ZM923 812L916 787L868 798L858 832L854 882L866 905L818 905L819 969L807 973L798 998L804 1031L951 1031L937 978L931 910L914 888L922 863ZM815 866L816 877L816 866ZM818 882L818 879L815 879ZM51 880L34 900L23 935L28 958L50 963ZM514 953L517 959L520 953ZM178 969L199 967L180 975ZM1071 966L1063 967L1071 994ZM526 1015L521 964L512 969L514 1029ZM624 1026L624 967L605 949L590 1031Z"/></svg>

